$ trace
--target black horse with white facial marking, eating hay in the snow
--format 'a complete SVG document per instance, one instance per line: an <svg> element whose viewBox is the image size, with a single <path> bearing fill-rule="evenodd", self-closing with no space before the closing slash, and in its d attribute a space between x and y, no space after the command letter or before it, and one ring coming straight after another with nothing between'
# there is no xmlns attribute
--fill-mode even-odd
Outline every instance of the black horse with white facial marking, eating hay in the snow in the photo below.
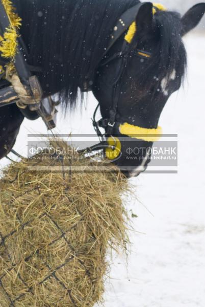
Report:
<svg viewBox="0 0 205 307"><path fill-rule="evenodd" d="M195 5L183 17L149 2L137 7L139 3L13 0L22 18L20 34L28 50L27 62L40 68L36 74L44 96L59 93L66 112L83 99L85 87L91 89L102 118L108 119L107 124L104 121L107 135L112 128L112 135L124 137L121 156L115 164L129 175L135 174L142 162L135 159L135 166L130 169L127 148L152 145L152 138L134 136L135 131L148 135L160 131L157 128L161 112L169 96L180 88L186 71L182 37L199 23L205 12L205 3ZM121 18L125 12L134 12L135 23L129 24L131 27ZM126 29L109 48L119 25ZM118 93L115 118L109 125L115 91ZM16 105L2 107L0 111L2 158L14 145L24 116Z"/></svg>

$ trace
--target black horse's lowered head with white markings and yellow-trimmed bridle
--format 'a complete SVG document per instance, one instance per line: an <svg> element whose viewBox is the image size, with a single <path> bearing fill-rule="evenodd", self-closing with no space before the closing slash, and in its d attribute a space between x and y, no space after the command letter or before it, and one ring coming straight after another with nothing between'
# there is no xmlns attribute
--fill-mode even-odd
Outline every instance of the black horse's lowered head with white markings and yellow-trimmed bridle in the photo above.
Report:
<svg viewBox="0 0 205 307"><path fill-rule="evenodd" d="M205 3L200 3L181 17L161 5L140 4L134 23L112 44L97 69L93 93L113 145L106 154L127 177L137 176L150 161L153 141L162 134L160 115L185 75L182 38L204 11ZM114 31L123 23L122 17Z"/></svg>

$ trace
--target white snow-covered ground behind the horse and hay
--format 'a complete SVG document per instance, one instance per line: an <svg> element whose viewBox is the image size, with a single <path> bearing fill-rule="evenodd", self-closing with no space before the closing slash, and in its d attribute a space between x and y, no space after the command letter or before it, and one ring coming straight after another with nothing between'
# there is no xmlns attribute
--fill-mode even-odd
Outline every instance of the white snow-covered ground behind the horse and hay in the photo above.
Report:
<svg viewBox="0 0 205 307"><path fill-rule="evenodd" d="M164 133L178 134L178 174L143 174L132 180L139 199L125 201L139 215L133 220L132 252L127 266L122 256L115 259L105 307L205 306L204 38L202 33L186 37L188 81L170 98L160 122ZM92 133L96 102L89 101L82 114L59 119L58 131ZM46 130L41 120L25 120L18 152L27 151L28 132Z"/></svg>

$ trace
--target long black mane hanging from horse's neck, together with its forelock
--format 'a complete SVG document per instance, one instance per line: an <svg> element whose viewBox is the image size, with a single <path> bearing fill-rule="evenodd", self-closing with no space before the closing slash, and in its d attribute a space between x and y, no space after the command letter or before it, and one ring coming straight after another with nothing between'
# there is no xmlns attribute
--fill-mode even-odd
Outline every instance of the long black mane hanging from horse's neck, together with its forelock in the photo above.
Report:
<svg viewBox="0 0 205 307"><path fill-rule="evenodd" d="M79 85L92 78L105 53L116 20L139 1L14 0L14 3L22 18L21 34L29 51L28 62L42 68L39 79L45 95L60 92L61 100L72 106ZM153 65L158 65L158 70L166 67L171 73L177 61L182 77L186 52L179 36L180 19L169 12L159 12L155 19L161 35L161 52L156 54L157 63Z"/></svg>

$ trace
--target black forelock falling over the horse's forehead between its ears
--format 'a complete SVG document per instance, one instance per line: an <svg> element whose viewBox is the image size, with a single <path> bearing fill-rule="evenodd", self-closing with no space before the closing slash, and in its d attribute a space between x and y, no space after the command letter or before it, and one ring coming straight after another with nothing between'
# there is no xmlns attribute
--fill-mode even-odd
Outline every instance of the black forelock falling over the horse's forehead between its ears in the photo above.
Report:
<svg viewBox="0 0 205 307"><path fill-rule="evenodd" d="M187 67L187 54L181 37L181 16L176 12L159 11L153 17L155 43L149 61L139 70L135 83L141 84L147 92L154 94L160 88L162 80L173 79L173 72L182 84ZM136 36L140 33L136 32Z"/></svg>

